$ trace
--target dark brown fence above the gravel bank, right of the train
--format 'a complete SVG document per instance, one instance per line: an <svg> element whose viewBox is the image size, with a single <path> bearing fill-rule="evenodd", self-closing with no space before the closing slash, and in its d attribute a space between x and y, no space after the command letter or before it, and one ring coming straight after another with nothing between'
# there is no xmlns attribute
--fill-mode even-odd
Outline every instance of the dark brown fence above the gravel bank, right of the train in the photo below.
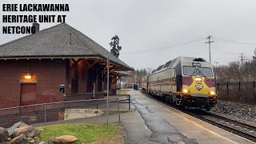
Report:
<svg viewBox="0 0 256 144"><path fill-rule="evenodd" d="M221 100L256 103L256 82L218 82L217 91Z"/></svg>

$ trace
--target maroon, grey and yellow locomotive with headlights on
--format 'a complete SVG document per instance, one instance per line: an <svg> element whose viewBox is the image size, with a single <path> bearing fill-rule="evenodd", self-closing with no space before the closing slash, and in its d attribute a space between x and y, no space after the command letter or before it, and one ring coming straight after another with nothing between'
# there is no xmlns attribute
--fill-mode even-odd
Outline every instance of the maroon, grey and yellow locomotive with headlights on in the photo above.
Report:
<svg viewBox="0 0 256 144"><path fill-rule="evenodd" d="M188 109L209 111L217 102L213 67L203 58L178 57L158 66L142 78L142 90Z"/></svg>

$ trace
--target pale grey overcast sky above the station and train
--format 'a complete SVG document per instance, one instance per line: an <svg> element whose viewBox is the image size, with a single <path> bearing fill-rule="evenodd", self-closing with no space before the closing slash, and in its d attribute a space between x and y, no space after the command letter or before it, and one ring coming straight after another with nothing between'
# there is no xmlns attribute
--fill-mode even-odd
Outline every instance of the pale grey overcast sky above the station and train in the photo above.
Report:
<svg viewBox="0 0 256 144"><path fill-rule="evenodd" d="M110 50L110 39L120 38L119 58L135 68L156 68L178 56L209 60L206 37L213 36L212 62L225 65L252 58L256 47L254 0L34 0L36 3L69 3L66 23ZM32 0L1 0L33 3ZM28 14L11 12L11 14ZM43 14L30 12L29 14ZM57 23L41 23L40 30ZM10 25L10 24L8 24ZM17 24L16 24L17 25ZM30 26L30 24L18 24ZM6 24L4 24L6 26ZM24 34L2 34L0 44Z"/></svg>

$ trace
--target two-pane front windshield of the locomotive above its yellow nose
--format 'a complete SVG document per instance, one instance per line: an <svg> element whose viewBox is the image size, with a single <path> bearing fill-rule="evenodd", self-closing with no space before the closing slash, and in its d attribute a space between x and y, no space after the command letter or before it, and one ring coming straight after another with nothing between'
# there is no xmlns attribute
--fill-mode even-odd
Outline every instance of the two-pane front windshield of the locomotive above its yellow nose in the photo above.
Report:
<svg viewBox="0 0 256 144"><path fill-rule="evenodd" d="M212 77L212 70L210 67L198 67L198 70L195 66L183 66L183 74L190 76L202 76L202 77Z"/></svg>

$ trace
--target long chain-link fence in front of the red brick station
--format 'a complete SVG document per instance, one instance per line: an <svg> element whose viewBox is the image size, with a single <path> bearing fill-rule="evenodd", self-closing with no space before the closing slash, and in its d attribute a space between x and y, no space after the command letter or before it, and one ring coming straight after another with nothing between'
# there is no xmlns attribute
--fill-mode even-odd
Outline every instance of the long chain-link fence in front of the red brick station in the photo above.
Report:
<svg viewBox="0 0 256 144"><path fill-rule="evenodd" d="M120 113L130 110L130 95L123 98L52 102L0 109L0 126L54 122L120 122ZM108 112L107 112L108 111ZM108 116L106 116L108 115Z"/></svg>

